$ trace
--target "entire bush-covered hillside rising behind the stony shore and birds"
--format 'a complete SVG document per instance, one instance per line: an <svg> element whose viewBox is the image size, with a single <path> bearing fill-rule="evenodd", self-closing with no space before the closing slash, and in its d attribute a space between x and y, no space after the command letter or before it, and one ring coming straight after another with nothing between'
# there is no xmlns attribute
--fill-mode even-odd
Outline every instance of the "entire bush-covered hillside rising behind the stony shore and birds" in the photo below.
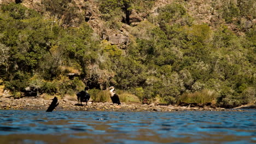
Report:
<svg viewBox="0 0 256 144"><path fill-rule="evenodd" d="M115 86L147 104L255 104L255 7L253 0L2 3L0 84L14 94L33 87L64 97ZM113 34L128 40L113 44Z"/></svg>

